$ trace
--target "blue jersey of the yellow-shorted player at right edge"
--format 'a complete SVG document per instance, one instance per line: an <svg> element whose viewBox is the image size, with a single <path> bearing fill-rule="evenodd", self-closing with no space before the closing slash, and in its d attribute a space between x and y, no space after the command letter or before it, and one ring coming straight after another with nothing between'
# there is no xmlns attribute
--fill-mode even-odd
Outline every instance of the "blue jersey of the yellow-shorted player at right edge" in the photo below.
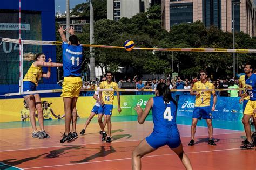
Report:
<svg viewBox="0 0 256 170"><path fill-rule="evenodd" d="M256 74L252 74L245 81L245 89L248 91L250 100L256 101Z"/></svg>

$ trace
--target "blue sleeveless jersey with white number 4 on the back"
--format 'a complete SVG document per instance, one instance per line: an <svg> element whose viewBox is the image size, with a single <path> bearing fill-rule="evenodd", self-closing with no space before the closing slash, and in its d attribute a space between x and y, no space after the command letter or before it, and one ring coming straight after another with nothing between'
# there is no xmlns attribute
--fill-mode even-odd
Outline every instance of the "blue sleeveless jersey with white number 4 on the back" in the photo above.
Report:
<svg viewBox="0 0 256 170"><path fill-rule="evenodd" d="M153 97L153 100L153 134L158 137L179 138L176 124L176 104L173 101L165 104L163 96Z"/></svg>

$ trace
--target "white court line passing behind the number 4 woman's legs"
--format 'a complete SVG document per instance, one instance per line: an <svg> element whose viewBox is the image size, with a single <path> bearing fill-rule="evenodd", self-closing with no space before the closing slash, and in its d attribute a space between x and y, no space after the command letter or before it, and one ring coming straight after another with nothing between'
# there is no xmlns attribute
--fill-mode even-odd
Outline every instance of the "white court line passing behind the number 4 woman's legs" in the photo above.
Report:
<svg viewBox="0 0 256 170"><path fill-rule="evenodd" d="M232 133L220 133L220 134L215 134L215 135L225 135L225 134L237 134L241 132L232 132ZM208 136L208 134L204 135L198 135L195 137L201 137L201 136ZM146 136L145 136L146 137ZM191 136L182 136L180 138L187 138ZM144 138L143 138L144 139ZM138 139L138 140L123 140L123 141L112 141L112 143L121 143L121 142L131 142L131 141L142 141L143 139ZM104 144L104 142L98 142L98 143L90 143L90 144L81 144L81 145L61 145L61 146L49 146L49 147L33 147L33 148L22 148L22 149L17 149L17 150L5 150L5 151L0 151L0 152L9 152L9 151L23 151L23 150L38 150L38 149L43 149L43 148L53 148L53 147L69 147L69 146L83 146L83 145L95 145L95 144Z"/></svg>

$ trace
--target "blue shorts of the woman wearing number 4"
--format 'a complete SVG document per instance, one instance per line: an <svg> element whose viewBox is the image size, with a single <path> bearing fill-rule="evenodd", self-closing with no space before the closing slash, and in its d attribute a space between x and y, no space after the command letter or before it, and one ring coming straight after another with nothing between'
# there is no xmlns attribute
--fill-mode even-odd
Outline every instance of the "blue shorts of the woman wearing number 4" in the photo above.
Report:
<svg viewBox="0 0 256 170"><path fill-rule="evenodd" d="M180 138L156 137L152 134L146 137L146 141L154 149L157 149L165 145L168 145L170 148L176 148L181 144Z"/></svg>

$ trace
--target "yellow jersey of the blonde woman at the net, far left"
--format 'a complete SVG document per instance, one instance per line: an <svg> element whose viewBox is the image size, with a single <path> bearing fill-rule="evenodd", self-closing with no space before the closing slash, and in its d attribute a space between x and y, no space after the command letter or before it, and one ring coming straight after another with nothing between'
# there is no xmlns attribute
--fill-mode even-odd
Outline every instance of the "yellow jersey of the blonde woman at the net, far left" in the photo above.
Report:
<svg viewBox="0 0 256 170"><path fill-rule="evenodd" d="M33 63L30 66L28 72L26 72L26 75L24 76L23 81L31 81L38 85L38 81L41 79L43 75L43 70L41 66L34 66Z"/></svg>

